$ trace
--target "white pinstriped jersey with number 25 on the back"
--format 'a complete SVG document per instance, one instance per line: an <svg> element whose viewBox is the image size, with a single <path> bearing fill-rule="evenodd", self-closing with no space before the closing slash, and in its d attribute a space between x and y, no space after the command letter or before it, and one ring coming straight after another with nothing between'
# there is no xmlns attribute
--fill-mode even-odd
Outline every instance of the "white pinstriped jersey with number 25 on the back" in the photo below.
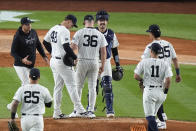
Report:
<svg viewBox="0 0 196 131"><path fill-rule="evenodd" d="M27 84L15 93L14 100L22 103L21 113L44 114L45 103L52 101L48 89L39 84Z"/></svg>

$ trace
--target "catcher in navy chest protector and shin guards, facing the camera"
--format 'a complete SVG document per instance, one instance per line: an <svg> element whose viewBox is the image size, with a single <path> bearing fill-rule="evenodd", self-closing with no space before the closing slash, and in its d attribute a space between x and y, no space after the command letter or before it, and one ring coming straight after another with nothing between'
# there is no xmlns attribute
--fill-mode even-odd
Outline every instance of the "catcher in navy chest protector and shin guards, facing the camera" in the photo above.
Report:
<svg viewBox="0 0 196 131"><path fill-rule="evenodd" d="M101 73L101 86L103 88L104 96L106 102L106 116L114 117L113 110L113 91L112 91L112 67L111 67L111 54L113 54L113 58L116 64L116 69L121 70L119 56L118 56L118 46L119 42L113 30L107 28L109 20L109 14L100 10L96 14L96 22L99 30L106 38L108 45L106 46L106 61L104 66L104 71ZM97 88L99 88L99 79L97 80Z"/></svg>

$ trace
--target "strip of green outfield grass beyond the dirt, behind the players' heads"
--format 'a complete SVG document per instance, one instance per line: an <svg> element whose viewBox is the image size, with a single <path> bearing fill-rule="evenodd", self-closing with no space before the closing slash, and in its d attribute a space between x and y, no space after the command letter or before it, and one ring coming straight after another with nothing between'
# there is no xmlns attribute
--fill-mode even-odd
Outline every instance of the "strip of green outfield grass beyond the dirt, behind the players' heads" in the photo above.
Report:
<svg viewBox="0 0 196 131"><path fill-rule="evenodd" d="M78 25L83 27L83 17L95 12L63 12L63 11L25 11L32 19L40 21L33 24L35 29L49 29L59 24L65 15L72 13L78 18ZM20 16L21 18L21 16ZM153 14L153 13L111 13L109 27L118 33L146 34L150 24L159 24L162 36L196 40L196 15L193 14ZM16 29L16 22L2 22L0 29ZM76 30L76 29L74 29Z"/></svg>

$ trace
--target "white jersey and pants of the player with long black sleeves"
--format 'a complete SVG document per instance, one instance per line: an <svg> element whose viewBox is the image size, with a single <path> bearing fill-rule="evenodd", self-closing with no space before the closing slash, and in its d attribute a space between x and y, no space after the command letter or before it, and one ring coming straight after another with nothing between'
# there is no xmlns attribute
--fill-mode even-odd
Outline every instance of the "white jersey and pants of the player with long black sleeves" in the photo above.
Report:
<svg viewBox="0 0 196 131"><path fill-rule="evenodd" d="M76 81L75 81L75 71L73 67L66 66L63 63L63 57L66 52L63 48L63 44L70 43L70 31L62 25L55 25L52 27L44 40L51 43L52 46L52 58L50 60L50 67L53 72L55 87L54 87L54 114L62 114L60 106L62 100L62 89L64 84L68 90L71 100L77 112L85 112L81 101L77 94Z"/></svg>

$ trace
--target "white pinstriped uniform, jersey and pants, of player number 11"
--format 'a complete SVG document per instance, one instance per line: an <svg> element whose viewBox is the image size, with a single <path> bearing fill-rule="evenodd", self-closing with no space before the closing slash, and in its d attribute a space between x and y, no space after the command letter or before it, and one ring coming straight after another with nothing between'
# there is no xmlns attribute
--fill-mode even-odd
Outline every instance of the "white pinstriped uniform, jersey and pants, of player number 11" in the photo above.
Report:
<svg viewBox="0 0 196 131"><path fill-rule="evenodd" d="M172 71L167 62L157 58L143 59L134 70L142 75L144 80L143 108L145 116L155 116L159 107L166 99L164 95L164 79L172 77Z"/></svg>

